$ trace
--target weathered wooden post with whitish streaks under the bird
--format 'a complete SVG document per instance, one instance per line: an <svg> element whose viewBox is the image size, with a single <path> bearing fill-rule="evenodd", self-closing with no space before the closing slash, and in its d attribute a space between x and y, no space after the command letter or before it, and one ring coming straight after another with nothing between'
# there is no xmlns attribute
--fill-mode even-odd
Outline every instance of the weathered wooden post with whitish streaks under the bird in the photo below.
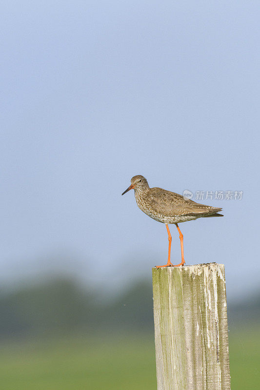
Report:
<svg viewBox="0 0 260 390"><path fill-rule="evenodd" d="M230 390L223 264L153 268L158 390Z"/></svg>

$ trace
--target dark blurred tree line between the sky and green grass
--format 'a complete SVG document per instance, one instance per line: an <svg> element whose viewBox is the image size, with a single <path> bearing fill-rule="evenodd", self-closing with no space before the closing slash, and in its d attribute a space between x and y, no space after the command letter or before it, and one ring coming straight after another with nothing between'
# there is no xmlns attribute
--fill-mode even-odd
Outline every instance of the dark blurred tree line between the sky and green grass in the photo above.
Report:
<svg viewBox="0 0 260 390"><path fill-rule="evenodd" d="M228 306L229 326L259 323L260 294ZM153 331L152 285L140 281L108 301L77 280L54 279L0 293L0 336Z"/></svg>

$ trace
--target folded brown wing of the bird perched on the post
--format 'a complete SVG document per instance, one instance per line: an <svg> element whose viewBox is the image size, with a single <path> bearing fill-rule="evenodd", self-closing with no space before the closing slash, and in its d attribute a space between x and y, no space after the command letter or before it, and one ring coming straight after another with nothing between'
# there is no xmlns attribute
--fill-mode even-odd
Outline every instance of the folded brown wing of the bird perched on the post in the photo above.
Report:
<svg viewBox="0 0 260 390"><path fill-rule="evenodd" d="M196 203L190 199L184 199L182 195L161 188L151 188L149 200L152 208L159 214L174 215L200 215L214 214L221 211L220 208Z"/></svg>

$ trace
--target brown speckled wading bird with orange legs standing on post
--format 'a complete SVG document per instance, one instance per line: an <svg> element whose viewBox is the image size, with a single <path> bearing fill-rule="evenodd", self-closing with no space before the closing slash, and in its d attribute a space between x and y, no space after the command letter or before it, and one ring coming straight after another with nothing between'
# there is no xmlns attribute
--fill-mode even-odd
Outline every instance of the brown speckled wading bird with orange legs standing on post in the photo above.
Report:
<svg viewBox="0 0 260 390"><path fill-rule="evenodd" d="M219 207L196 203L191 199L185 199L182 195L163 190L162 188L150 188L146 178L142 175L133 176L131 178L131 185L122 193L122 195L132 189L135 191L136 202L140 210L156 221L166 225L169 240L168 260L167 264L158 265L156 268L179 267L185 264L183 234L180 231L179 223L204 217L223 216L222 214L219 214L222 210ZM179 232L181 249L180 264L174 265L171 263L172 236L169 230L169 224L175 224Z"/></svg>

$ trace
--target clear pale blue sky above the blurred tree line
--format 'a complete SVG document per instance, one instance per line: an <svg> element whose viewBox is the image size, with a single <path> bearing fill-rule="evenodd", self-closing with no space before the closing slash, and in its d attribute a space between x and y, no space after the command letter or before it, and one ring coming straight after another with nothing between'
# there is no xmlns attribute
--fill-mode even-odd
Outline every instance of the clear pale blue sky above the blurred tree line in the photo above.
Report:
<svg viewBox="0 0 260 390"><path fill-rule="evenodd" d="M187 264L224 263L232 299L258 291L259 3L8 1L1 14L2 283L150 277L166 229L121 196L141 174L180 194L243 191L201 201L224 218L180 229Z"/></svg>

